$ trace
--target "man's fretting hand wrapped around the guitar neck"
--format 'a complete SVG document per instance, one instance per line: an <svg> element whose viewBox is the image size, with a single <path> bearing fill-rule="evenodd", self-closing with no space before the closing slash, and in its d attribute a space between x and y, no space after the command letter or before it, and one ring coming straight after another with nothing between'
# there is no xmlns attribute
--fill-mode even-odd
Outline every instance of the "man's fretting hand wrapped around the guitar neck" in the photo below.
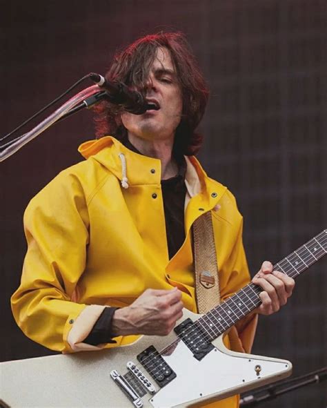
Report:
<svg viewBox="0 0 327 408"><path fill-rule="evenodd" d="M252 282L264 289L260 293L262 304L257 308L261 315L271 315L286 304L295 286L294 279L285 273L273 271L273 265L265 261Z"/></svg>

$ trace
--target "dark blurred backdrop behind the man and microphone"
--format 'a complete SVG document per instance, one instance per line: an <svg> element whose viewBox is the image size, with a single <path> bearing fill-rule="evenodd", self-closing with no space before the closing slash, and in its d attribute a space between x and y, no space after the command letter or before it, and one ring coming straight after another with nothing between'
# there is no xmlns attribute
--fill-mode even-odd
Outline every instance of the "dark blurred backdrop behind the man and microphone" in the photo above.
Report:
<svg viewBox="0 0 327 408"><path fill-rule="evenodd" d="M327 226L326 8L325 0L1 1L0 134L86 73L105 72L117 47L184 31L211 90L199 157L237 196L254 274ZM93 137L83 111L0 164L1 360L50 353L23 336L10 311L26 251L22 216ZM292 361L295 376L326 366L326 265L299 278L280 313L260 318L253 353ZM325 387L262 406L325 407Z"/></svg>

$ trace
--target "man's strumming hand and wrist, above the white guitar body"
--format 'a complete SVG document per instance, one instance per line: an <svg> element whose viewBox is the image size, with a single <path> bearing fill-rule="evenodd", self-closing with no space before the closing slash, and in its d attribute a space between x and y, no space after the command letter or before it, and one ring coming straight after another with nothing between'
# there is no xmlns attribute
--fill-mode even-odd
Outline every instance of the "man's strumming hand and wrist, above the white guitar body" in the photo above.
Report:
<svg viewBox="0 0 327 408"><path fill-rule="evenodd" d="M112 333L114 336L166 336L183 315L182 309L181 292L178 289L147 289L130 306L115 311Z"/></svg>

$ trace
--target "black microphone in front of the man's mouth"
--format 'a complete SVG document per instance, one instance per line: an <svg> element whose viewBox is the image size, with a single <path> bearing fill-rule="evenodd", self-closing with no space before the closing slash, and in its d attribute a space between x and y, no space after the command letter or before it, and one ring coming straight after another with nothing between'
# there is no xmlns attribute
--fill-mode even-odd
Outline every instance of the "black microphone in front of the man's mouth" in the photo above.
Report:
<svg viewBox="0 0 327 408"><path fill-rule="evenodd" d="M134 113L134 115L142 115L152 105L148 105L146 99L137 90L128 88L122 82L106 81L102 75L95 72L90 73L92 79L97 86L107 91L107 99L111 104L122 106L127 112Z"/></svg>

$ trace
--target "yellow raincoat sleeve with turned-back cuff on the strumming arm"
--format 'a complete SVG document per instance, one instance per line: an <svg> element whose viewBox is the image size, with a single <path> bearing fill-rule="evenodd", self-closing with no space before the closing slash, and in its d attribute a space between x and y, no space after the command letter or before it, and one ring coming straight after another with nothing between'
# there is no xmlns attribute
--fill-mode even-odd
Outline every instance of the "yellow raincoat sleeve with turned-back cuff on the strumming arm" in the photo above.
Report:
<svg viewBox="0 0 327 408"><path fill-rule="evenodd" d="M74 301L86 266L88 226L83 188L73 174L59 174L24 215L28 251L12 312L26 336L52 350L76 351L75 343L88 335L104 309Z"/></svg>

